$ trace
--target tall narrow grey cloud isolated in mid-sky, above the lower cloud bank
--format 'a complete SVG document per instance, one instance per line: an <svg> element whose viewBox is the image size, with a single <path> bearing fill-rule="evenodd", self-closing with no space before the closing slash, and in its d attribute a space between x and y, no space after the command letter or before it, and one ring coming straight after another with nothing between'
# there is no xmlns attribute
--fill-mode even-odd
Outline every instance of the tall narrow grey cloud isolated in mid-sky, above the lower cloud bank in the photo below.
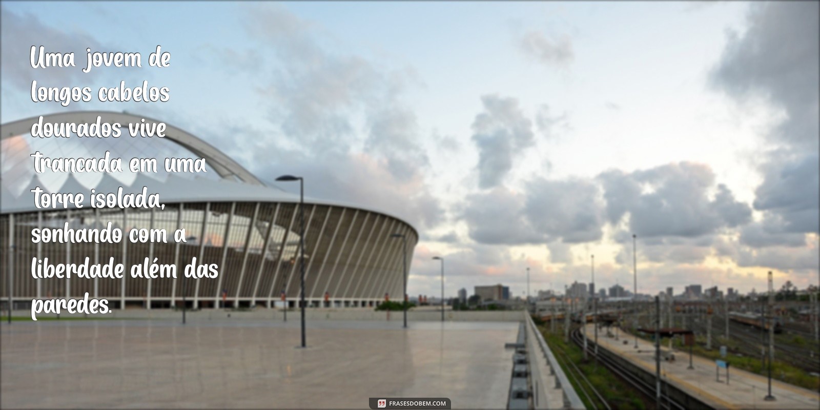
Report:
<svg viewBox="0 0 820 410"><path fill-rule="evenodd" d="M479 153L479 187L489 189L501 185L512 170L513 160L533 146L535 138L532 122L524 116L516 98L485 95L481 103L484 112L472 123L472 141Z"/></svg>

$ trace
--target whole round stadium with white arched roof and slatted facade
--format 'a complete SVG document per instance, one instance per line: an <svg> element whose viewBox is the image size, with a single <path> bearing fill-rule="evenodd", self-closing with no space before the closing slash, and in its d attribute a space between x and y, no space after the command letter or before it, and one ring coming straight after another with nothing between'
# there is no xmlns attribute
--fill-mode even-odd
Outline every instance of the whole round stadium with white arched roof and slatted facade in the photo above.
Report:
<svg viewBox="0 0 820 410"><path fill-rule="evenodd" d="M30 118L2 125L2 203L0 203L0 292L5 302L7 275L15 308L28 307L34 298L107 298L112 308L271 307L284 295L297 306L300 271L299 197L267 186L237 162L194 135L168 125L166 138L131 138L127 123L144 118L117 112L66 112L43 116L43 122L118 122L118 139L40 139L30 135ZM155 121L156 120L148 120ZM31 153L45 157L122 157L123 172L34 172ZM156 157L156 173L128 171L131 157ZM164 157L204 158L205 173L166 173ZM284 171L284 170L283 170ZM283 172L284 173L284 172ZM309 189L310 180L306 181ZM85 206L38 209L30 189L48 193L83 193ZM164 209L92 208L89 193L139 193L144 186L158 193ZM309 191L308 191L309 192ZM403 294L403 246L391 238L405 235L408 262L418 241L407 222L385 212L345 203L305 198L304 206L305 298L308 307L374 306L385 296ZM123 229L118 244L34 244L34 228L104 227L107 221ZM167 243L131 243L134 228L165 229ZM188 240L176 244L173 232L185 228ZM31 276L32 258L48 257L51 263L108 262L125 265L123 279L39 279ZM130 277L130 266L157 258L175 264L177 278ZM216 278L184 280L184 266L196 257L198 264L216 263Z"/></svg>

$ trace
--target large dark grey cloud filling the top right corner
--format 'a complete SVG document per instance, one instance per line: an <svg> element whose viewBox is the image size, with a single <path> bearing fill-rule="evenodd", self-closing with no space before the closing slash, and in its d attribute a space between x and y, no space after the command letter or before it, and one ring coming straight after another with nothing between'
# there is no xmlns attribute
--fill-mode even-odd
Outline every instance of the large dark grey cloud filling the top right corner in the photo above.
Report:
<svg viewBox="0 0 820 410"><path fill-rule="evenodd" d="M749 28L729 34L712 84L742 101L751 94L786 109L775 142L818 151L820 21L818 2L762 2L749 9Z"/></svg>

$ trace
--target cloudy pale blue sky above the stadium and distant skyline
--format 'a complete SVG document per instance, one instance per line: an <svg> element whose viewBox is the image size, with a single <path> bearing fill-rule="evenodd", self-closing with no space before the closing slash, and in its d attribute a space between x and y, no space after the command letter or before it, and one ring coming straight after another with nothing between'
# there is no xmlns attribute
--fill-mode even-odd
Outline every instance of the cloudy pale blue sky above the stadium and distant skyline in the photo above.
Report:
<svg viewBox="0 0 820 410"><path fill-rule="evenodd" d="M408 293L818 285L818 2L2 2L0 121L126 110L401 216ZM48 51L171 66L30 68ZM79 65L79 64L78 64ZM171 100L33 103L46 86ZM294 190L294 186L278 185Z"/></svg>

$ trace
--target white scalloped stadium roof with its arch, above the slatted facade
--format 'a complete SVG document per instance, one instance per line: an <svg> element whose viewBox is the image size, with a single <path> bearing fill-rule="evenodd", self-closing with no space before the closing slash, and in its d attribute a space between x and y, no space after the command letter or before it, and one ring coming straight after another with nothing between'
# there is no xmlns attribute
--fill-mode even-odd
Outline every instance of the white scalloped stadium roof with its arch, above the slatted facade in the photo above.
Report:
<svg viewBox="0 0 820 410"><path fill-rule="evenodd" d="M65 112L43 116L43 122L82 123L119 122L123 126L123 136L118 139L97 139L82 144L78 139L40 139L30 136L31 125L39 117L28 118L0 125L2 138L2 177L0 177L0 213L36 212L34 194L30 189L41 187L48 193L83 193L84 207L90 207L90 189L98 193L116 193L119 187L123 194L139 194L148 186L149 194L160 194L162 203L204 203L204 202L277 202L298 203L297 194L265 185L250 171L202 139L185 130L167 125L164 139L131 138L128 123L145 118L148 123L158 120L145 116L135 116L125 112ZM90 143L90 144L89 144ZM38 174L34 171L31 153L40 151L46 157L89 158L103 157L111 151L111 157L123 158L123 172L119 173L66 173L50 170ZM157 168L162 168L161 157L205 158L208 172L201 173L132 173L128 168L131 157L156 157ZM307 181L309 184L309 181ZM403 218L381 210L362 207L359 204L341 203L316 198L305 198L305 203L352 207L378 212L404 221ZM48 211L58 211L48 209ZM405 223L407 223L405 221ZM415 230L415 229L414 229Z"/></svg>

